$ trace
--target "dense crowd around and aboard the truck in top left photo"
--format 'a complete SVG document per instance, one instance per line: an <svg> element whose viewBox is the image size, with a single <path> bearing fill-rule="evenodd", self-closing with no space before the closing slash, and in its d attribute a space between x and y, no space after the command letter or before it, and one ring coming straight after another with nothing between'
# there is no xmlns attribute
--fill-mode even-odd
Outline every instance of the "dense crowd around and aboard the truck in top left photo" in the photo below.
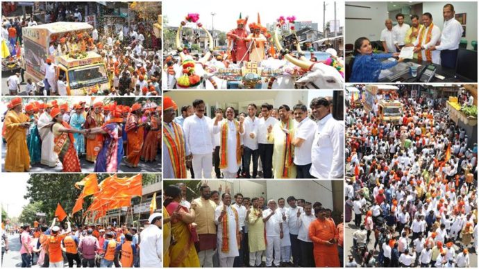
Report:
<svg viewBox="0 0 479 269"><path fill-rule="evenodd" d="M85 21L82 13L66 8L63 3L52 3L51 19L56 21ZM56 14L56 15L55 15ZM60 95L66 96L69 85L66 76L56 76L56 57L69 55L71 58L81 59L88 51L101 55L106 64L106 76L110 89L101 91L92 87L88 95L110 96L159 96L161 95L161 41L153 31L156 22L147 17L136 18L130 27L124 24L118 32L99 33L97 28L90 31L71 31L50 37L47 58L42 59L44 80L35 82L24 79L25 60L22 59L21 71L11 76L12 82L7 86L10 95L18 95L20 84L26 84L28 95ZM25 20L25 19L24 19ZM3 18L3 35L5 40L12 42L10 48L15 49L18 41L22 44L22 27L37 25L31 17L30 22L20 23L19 18ZM8 30L7 30L8 29ZM12 29L10 31L10 29ZM14 31L15 30L15 31ZM18 49L18 48L17 48ZM12 51L12 55L15 55ZM15 76L17 79L15 79ZM22 77L22 81L19 78ZM10 79L9 79L10 80ZM18 81L17 81L18 80Z"/></svg>

